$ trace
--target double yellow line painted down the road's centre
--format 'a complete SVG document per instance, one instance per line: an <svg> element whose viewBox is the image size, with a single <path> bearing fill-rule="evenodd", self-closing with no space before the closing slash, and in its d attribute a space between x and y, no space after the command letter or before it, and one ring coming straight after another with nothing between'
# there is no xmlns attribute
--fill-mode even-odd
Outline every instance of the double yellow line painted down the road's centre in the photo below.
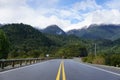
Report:
<svg viewBox="0 0 120 80"><path fill-rule="evenodd" d="M61 61L61 63L60 63L58 73L57 73L57 76L56 76L56 80L60 80L61 71L62 71L62 80L66 80L65 68L64 68L64 62L63 61Z"/></svg>

